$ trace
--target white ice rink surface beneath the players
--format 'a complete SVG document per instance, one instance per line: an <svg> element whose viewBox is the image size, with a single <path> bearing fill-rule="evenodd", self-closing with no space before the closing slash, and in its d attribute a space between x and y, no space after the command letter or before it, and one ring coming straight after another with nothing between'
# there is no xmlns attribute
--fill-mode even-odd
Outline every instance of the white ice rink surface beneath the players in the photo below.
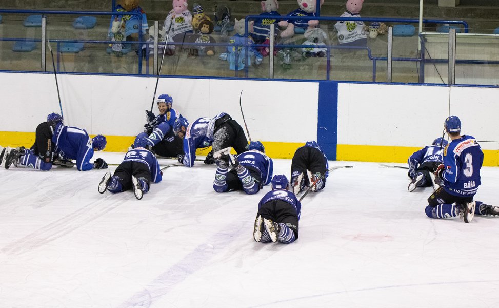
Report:
<svg viewBox="0 0 499 308"><path fill-rule="evenodd" d="M170 167L140 201L98 194L106 170L2 168L0 307L499 307L499 218L429 219L407 170L335 165L354 168L303 199L288 245L252 237L270 187L217 194L214 165ZM482 182L499 205L499 168Z"/></svg>

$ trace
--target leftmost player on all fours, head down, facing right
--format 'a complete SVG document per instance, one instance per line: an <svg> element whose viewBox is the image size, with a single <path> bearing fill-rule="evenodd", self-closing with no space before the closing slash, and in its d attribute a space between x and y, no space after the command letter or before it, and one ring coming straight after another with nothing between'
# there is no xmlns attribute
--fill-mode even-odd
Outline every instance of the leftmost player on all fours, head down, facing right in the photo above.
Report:
<svg viewBox="0 0 499 308"><path fill-rule="evenodd" d="M46 122L36 127L33 146L12 149L7 157L4 155L4 167L8 169L13 164L48 171L57 158L63 157L69 163L75 159L78 171L105 169L107 163L102 158L93 163L90 159L94 151L103 150L106 144L106 137L90 138L85 129L64 126L61 115L51 113Z"/></svg>

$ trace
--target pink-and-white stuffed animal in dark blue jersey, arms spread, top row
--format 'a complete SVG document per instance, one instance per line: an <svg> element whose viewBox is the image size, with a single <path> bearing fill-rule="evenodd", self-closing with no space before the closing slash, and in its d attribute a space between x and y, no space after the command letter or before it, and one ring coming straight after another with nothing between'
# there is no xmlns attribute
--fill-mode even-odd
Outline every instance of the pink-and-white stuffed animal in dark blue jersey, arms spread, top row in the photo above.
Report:
<svg viewBox="0 0 499 308"><path fill-rule="evenodd" d="M298 9L288 13L286 16L290 17L315 17L317 3L316 0L297 0L298 1ZM324 0L321 0L321 5L324 3ZM286 28L283 32L281 32L282 38L292 37L295 33L303 34L308 27L316 27L319 24L319 21L316 20L286 20L280 21L279 26Z"/></svg>

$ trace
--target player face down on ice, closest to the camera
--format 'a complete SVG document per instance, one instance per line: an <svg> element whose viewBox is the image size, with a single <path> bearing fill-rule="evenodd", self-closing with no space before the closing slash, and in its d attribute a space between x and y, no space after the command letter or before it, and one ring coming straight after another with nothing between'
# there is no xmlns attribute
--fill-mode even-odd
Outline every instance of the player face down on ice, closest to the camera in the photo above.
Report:
<svg viewBox="0 0 499 308"><path fill-rule="evenodd" d="M293 192L285 175L272 178L272 190L258 203L253 238L257 242L289 244L298 239L298 220L302 204Z"/></svg>

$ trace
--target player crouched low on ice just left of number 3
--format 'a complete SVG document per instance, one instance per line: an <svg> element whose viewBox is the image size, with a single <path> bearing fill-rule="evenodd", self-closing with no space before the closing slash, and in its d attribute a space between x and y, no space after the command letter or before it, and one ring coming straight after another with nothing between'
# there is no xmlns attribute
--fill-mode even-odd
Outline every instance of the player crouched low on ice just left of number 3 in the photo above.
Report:
<svg viewBox="0 0 499 308"><path fill-rule="evenodd" d="M442 149L448 144L444 138L433 140L430 146L415 151L407 160L409 164L408 176L411 182L407 190L414 191L416 187L433 186L437 190L440 180L435 177L434 171L438 165L443 163Z"/></svg>

